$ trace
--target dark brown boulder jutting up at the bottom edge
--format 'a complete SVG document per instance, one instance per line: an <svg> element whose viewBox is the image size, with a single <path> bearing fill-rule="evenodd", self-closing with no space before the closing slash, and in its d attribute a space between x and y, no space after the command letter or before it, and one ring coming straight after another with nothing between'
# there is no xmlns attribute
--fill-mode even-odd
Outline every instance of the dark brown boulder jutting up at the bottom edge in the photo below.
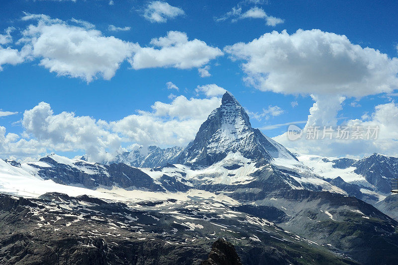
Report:
<svg viewBox="0 0 398 265"><path fill-rule="evenodd" d="M242 265L235 247L224 239L217 239L211 247L208 259L201 265Z"/></svg>

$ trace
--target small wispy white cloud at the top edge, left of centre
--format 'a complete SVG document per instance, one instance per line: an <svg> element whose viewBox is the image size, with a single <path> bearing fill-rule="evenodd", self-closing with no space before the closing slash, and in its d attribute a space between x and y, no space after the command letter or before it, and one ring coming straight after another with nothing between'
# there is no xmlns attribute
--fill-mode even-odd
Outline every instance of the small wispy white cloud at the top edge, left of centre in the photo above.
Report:
<svg viewBox="0 0 398 265"><path fill-rule="evenodd" d="M169 18L175 18L179 15L184 15L183 9L172 6L163 1L152 1L148 3L144 11L144 17L153 22L166 22Z"/></svg>

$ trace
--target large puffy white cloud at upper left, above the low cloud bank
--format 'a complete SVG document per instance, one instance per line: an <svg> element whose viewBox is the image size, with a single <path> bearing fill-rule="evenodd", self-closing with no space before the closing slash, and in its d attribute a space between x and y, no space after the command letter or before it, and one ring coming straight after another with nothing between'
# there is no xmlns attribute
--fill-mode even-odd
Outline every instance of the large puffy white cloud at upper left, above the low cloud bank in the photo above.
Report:
<svg viewBox="0 0 398 265"><path fill-rule="evenodd" d="M20 42L25 43L32 57L41 59L39 65L59 76L87 82L98 77L110 80L138 47L113 36L102 36L99 30L88 29L87 25L71 26L43 14L26 14L22 19L38 21L22 32Z"/></svg>

